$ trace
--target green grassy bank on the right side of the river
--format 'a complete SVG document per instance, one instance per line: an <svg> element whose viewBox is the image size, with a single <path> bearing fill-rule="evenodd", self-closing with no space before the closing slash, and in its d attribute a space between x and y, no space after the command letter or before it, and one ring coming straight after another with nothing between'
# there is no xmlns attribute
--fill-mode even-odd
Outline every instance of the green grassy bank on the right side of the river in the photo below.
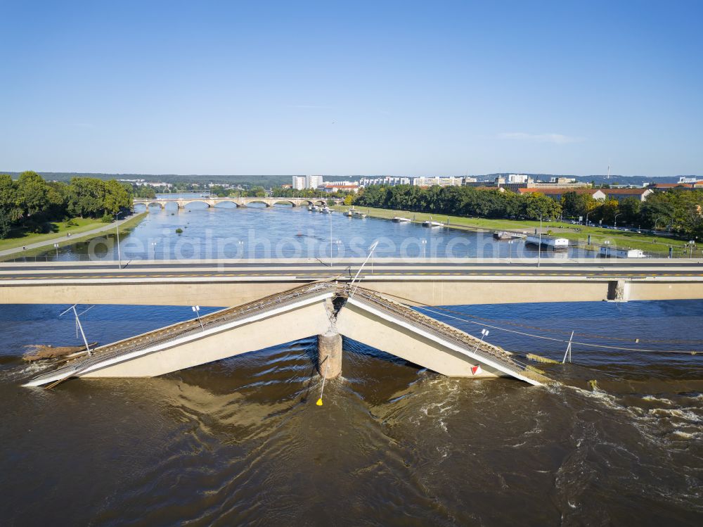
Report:
<svg viewBox="0 0 703 527"><path fill-rule="evenodd" d="M347 210L346 206L335 206L335 210L340 212ZM391 220L394 216L402 216L413 219L415 222L433 220L447 222L449 227L454 229L466 229L471 231L514 231L514 232L534 232L539 227L538 221L528 220L490 220L488 218L430 215L424 212L411 212L408 210L389 210L380 208L357 207L362 212L367 212L370 217L379 217ZM652 234L638 234L637 232L616 231L613 229L601 229L600 227L586 227L584 225L574 225L566 222L542 222L542 232L552 231L561 238L570 241L578 241L581 246L598 250L604 241L610 241L612 246L618 248L641 249L647 253L662 253L662 256L669 253L669 246L673 247L674 257L683 256L683 246L685 241L669 238L667 236L654 236ZM591 245L588 246L588 235L591 235ZM694 251L694 256L700 253Z"/></svg>

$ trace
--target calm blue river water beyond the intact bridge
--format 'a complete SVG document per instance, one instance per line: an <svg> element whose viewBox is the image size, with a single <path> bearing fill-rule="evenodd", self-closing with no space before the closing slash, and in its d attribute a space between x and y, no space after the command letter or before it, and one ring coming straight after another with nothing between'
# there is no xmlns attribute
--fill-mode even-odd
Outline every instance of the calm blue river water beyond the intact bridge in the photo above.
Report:
<svg viewBox="0 0 703 527"><path fill-rule="evenodd" d="M197 195L184 195L197 197ZM145 210L138 205L137 210ZM445 220L438 217L438 220ZM176 229L181 229L176 234ZM524 241L496 241L491 232L427 228L420 224L394 223L367 217L349 218L338 212L321 214L304 207L253 203L245 208L221 203L207 208L191 203L186 209L169 203L162 210L150 207L148 216L120 239L124 260L190 260L193 258L333 258L366 256L368 246L379 241L375 255L401 258L520 258L537 255ZM42 258L56 260L47 249ZM590 258L593 251L570 248L543 258ZM58 260L116 260L113 234L60 248Z"/></svg>

